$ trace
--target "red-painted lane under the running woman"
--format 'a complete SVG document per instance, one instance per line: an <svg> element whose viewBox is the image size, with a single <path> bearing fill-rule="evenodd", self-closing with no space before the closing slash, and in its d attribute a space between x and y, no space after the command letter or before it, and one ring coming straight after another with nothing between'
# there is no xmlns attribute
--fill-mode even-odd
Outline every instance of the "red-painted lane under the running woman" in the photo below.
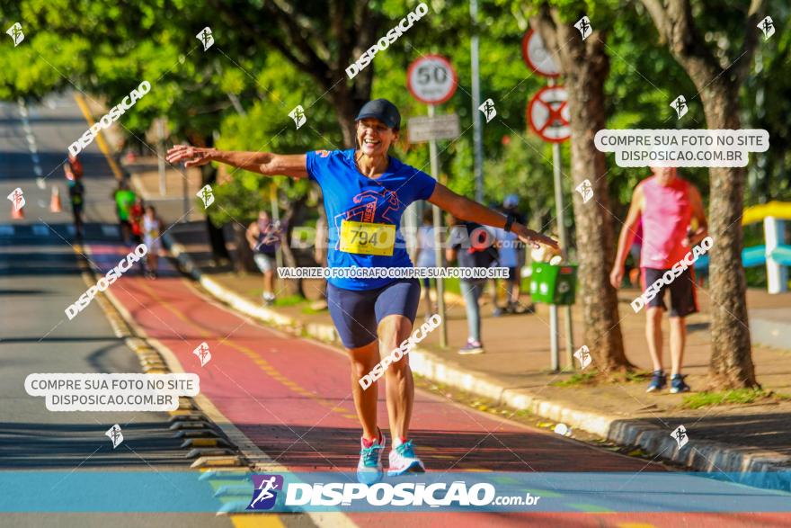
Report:
<svg viewBox="0 0 791 528"><path fill-rule="evenodd" d="M92 245L103 272L128 250ZM240 317L209 300L166 261L156 281L131 271L112 294L147 337L170 349L183 371L200 376L200 392L271 459L291 471L341 471L354 479L360 425L351 399L350 367L337 350ZM206 342L205 367L192 351ZM383 384L380 384L383 385ZM387 407L379 387L378 425L386 432ZM577 443L556 434L462 407L418 390L411 437L429 471L663 470L646 461ZM389 439L388 439L389 445ZM387 451L384 456L387 467ZM639 477L635 477L639 478ZM547 495L552 493L546 489ZM539 493L540 495L540 493ZM597 511L584 497L568 497L581 513L347 514L355 524L383 526L727 526L791 525L778 514L625 514ZM783 524L786 519L788 524Z"/></svg>

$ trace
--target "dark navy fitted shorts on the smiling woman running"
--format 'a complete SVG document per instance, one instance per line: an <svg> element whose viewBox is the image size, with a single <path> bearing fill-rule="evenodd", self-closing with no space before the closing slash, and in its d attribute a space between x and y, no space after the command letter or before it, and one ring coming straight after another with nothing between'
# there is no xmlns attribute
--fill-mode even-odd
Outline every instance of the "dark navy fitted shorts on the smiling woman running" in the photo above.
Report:
<svg viewBox="0 0 791 528"><path fill-rule="evenodd" d="M379 322L400 315L414 323L420 302L420 282L404 279L376 290L344 290L327 284L327 305L335 329L346 348L359 348L377 340Z"/></svg>

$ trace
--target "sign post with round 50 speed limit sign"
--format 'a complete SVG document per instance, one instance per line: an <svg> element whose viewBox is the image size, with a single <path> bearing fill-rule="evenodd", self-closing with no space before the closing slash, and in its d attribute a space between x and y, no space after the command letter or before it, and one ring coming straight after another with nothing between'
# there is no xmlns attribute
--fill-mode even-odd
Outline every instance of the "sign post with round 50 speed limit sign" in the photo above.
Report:
<svg viewBox="0 0 791 528"><path fill-rule="evenodd" d="M458 77L456 76L456 70L453 69L447 58L440 57L439 55L426 55L418 58L410 65L406 72L406 84L409 88L409 92L415 99L429 105L430 125L427 128L431 128L431 121L435 121L436 119L434 118L434 106L445 103L453 96L456 92L456 86L458 85ZM443 116L441 119L447 118L448 116ZM412 130L410 130L410 134L412 134ZM426 138L429 140L431 177L435 180L440 179L440 159L437 155L437 139L449 139L457 136L458 116L456 117L456 134L454 136L448 137L447 133L442 134L435 132L429 134ZM410 141L413 141L412 137L410 137ZM435 205L433 206L433 211L434 255L436 255L437 267L444 267L445 255L442 254L442 240L440 236L442 228L440 208ZM445 282L441 277L437 278L437 311L441 318L440 346L446 348L448 346L448 326L445 324Z"/></svg>

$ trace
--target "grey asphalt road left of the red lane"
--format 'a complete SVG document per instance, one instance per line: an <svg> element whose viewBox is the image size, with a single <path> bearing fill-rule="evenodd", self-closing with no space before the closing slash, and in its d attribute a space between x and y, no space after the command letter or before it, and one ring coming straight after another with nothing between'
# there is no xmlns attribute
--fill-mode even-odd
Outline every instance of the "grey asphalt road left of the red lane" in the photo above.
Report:
<svg viewBox="0 0 791 528"><path fill-rule="evenodd" d="M50 412L43 398L24 389L25 378L33 372L141 371L137 356L113 334L98 303L72 320L64 312L87 284L68 230L71 214L61 165L67 145L86 128L70 96L51 97L33 107L0 103L0 193L5 197L20 187L26 201L24 220L12 222L6 216L0 221L0 472L53 471L51 488L36 490L44 505L48 496L79 486L85 470L158 471L166 486L168 472L187 470L190 462L179 449L182 440L168 429L166 413ZM117 243L110 168L95 144L81 158L88 237ZM49 211L53 185L60 187L64 212ZM4 203L3 213L9 215L10 202ZM121 426L124 441L113 449L105 432L115 424ZM6 492L0 495L0 503L7 497ZM97 514L2 515L3 526L105 526L109 520ZM212 514L113 517L115 526L231 524Z"/></svg>

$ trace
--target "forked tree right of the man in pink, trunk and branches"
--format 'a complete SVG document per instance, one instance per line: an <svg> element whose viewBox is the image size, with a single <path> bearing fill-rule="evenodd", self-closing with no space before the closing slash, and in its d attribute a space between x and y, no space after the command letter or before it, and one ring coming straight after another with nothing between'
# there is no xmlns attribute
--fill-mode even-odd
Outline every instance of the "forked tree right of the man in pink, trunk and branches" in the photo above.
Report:
<svg viewBox="0 0 791 528"><path fill-rule="evenodd" d="M660 39L692 79L700 94L709 129L741 128L739 89L750 71L763 18L764 0L752 0L744 22L739 55L720 57L707 46L692 16L689 0L641 0ZM713 167L709 171L711 201L709 233L712 352L710 384L715 389L758 385L751 357L746 282L742 267L742 208L745 167Z"/></svg>

